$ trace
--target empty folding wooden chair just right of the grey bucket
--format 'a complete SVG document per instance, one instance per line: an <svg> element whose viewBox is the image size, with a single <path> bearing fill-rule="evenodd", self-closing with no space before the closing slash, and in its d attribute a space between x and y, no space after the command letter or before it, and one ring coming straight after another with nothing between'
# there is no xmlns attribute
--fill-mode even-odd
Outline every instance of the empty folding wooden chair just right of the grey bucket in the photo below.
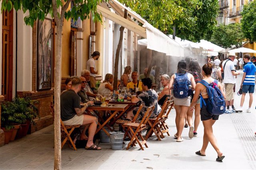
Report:
<svg viewBox="0 0 256 170"><path fill-rule="evenodd" d="M155 106L151 106L148 107L146 113L144 114L144 116L142 117L142 120L140 121L140 123L124 123L123 127L127 130L127 134L130 137L130 142L128 143L128 146L126 148L126 150L128 150L130 147L134 147L135 143L138 143L138 145L140 145L140 149L144 150L142 145L145 145L146 148L148 148L148 145L146 144L146 140L142 137L142 130L145 129L146 126L146 122L148 121L152 111L154 110ZM134 131L135 130L135 131ZM139 138L142 140L140 141Z"/></svg>

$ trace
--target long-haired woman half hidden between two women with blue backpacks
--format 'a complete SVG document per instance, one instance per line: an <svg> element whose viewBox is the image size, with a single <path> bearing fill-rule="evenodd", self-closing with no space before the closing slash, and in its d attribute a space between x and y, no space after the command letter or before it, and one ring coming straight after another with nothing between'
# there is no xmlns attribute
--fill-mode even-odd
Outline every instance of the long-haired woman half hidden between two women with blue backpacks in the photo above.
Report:
<svg viewBox="0 0 256 170"><path fill-rule="evenodd" d="M196 84L202 80L202 70L199 66L197 60L191 60L188 64L188 72L194 76L194 80ZM192 92L191 98L194 98L194 91ZM190 100L190 103L192 100ZM197 128L200 123L200 98L196 101L195 105L195 120L194 120L194 127L193 127L193 111L187 111L187 121L190 127L188 137L192 139L193 137L197 136Z"/></svg>

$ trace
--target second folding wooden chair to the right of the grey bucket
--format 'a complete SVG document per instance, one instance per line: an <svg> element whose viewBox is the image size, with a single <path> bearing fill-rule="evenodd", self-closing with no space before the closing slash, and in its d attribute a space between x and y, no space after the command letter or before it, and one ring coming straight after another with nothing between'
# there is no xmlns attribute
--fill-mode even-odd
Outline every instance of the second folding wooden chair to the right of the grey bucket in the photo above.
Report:
<svg viewBox="0 0 256 170"><path fill-rule="evenodd" d="M153 133L155 133L155 135L159 141L161 141L161 138L164 138L164 135L163 135L161 129L159 128L159 123L160 123L160 120L162 119L162 116L163 116L164 112L166 111L169 103L170 102L164 103L164 105L162 106L162 110L157 115L157 117L148 119L147 124L150 126L150 130L146 134L146 137L145 137L146 140L148 138L150 138L153 135Z"/></svg>

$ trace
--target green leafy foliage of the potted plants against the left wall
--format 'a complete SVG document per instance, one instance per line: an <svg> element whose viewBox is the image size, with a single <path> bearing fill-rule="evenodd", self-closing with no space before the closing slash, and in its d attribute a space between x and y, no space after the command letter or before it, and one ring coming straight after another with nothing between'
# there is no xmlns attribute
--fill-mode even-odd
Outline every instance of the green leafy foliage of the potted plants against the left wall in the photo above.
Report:
<svg viewBox="0 0 256 170"><path fill-rule="evenodd" d="M36 100L31 98L15 97L12 102L3 102L1 111L2 127L10 130L14 127L13 123L24 124L26 121L34 123L34 118L38 116Z"/></svg>

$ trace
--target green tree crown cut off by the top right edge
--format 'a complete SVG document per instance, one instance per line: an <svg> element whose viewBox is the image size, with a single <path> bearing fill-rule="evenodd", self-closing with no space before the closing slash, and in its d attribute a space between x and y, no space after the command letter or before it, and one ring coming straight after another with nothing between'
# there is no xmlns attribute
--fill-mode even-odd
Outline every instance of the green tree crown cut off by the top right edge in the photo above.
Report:
<svg viewBox="0 0 256 170"><path fill-rule="evenodd" d="M244 6L242 11L242 31L250 42L256 42L256 1Z"/></svg>

